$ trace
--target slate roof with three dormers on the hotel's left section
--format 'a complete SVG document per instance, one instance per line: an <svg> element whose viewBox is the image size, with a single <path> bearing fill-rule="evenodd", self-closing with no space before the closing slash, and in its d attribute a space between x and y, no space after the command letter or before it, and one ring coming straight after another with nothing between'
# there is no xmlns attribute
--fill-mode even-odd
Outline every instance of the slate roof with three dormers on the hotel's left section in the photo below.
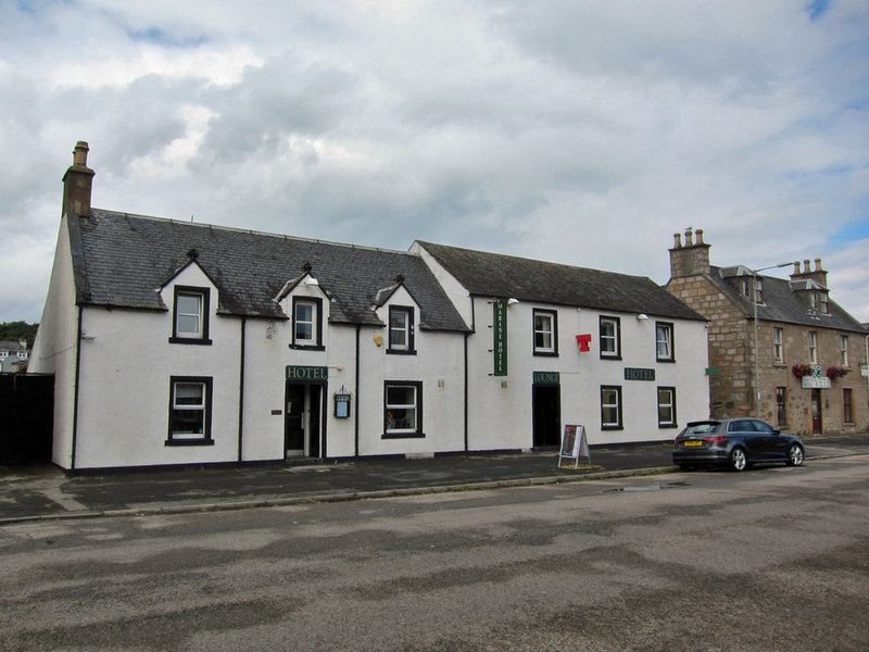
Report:
<svg viewBox="0 0 869 652"><path fill-rule="evenodd" d="M194 259L218 288L219 314L285 319L274 299L310 263L330 299L331 323L382 326L371 306L402 275L420 308L420 328L468 330L415 253L99 209L70 216L70 239L77 300L86 305L167 310L155 288Z"/></svg>

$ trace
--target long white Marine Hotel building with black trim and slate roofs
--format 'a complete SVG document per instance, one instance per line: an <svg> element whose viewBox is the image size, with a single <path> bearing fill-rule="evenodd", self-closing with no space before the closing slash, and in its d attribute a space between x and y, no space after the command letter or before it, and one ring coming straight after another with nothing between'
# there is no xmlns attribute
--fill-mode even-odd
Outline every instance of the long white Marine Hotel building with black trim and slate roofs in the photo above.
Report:
<svg viewBox="0 0 869 652"><path fill-rule="evenodd" d="M64 469L650 441L708 413L705 319L648 279L93 209L87 154L29 365Z"/></svg>

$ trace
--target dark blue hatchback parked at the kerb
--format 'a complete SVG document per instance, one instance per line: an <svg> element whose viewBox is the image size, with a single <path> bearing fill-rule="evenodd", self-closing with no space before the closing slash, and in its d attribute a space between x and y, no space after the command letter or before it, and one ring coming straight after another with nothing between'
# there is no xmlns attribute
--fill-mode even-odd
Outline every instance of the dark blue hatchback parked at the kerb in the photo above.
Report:
<svg viewBox="0 0 869 652"><path fill-rule="evenodd" d="M707 465L744 471L757 462L799 466L804 454L798 437L782 432L759 418L746 417L692 422L672 444L672 461L682 471Z"/></svg>

